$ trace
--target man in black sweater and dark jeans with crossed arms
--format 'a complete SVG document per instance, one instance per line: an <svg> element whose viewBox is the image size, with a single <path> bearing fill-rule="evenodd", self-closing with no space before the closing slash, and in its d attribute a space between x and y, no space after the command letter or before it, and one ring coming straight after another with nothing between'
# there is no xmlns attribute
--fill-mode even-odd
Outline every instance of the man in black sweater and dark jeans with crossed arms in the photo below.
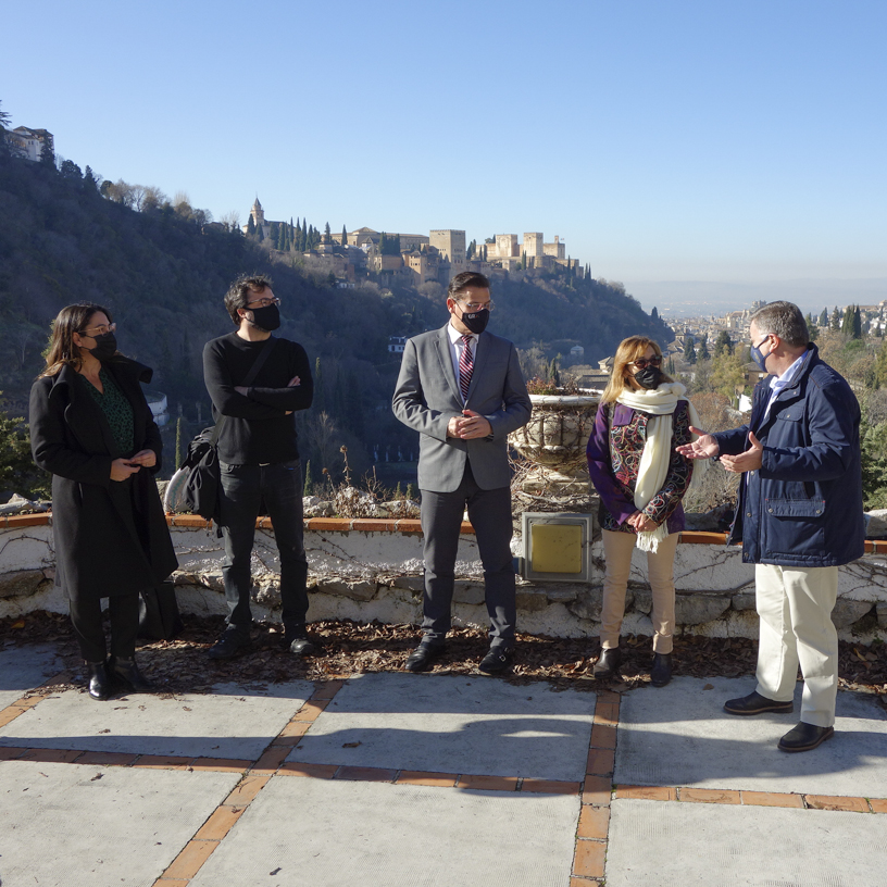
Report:
<svg viewBox="0 0 887 887"><path fill-rule="evenodd" d="M250 557L262 504L280 558L285 642L295 655L317 651L305 632L308 561L295 422L295 412L311 405L314 384L304 348L271 335L280 326L280 300L271 287L264 275L238 277L225 295L237 329L203 348L203 378L222 423L218 524L228 604L227 626L210 648L211 659L230 659L249 644Z"/></svg>

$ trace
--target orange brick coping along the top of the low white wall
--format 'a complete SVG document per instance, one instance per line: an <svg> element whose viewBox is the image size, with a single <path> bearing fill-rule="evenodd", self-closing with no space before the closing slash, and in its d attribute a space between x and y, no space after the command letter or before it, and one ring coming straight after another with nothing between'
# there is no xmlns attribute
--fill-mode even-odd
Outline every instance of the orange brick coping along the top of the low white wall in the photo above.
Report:
<svg viewBox="0 0 887 887"><path fill-rule="evenodd" d="M209 529L212 521L207 521L199 514L167 514L166 523L171 527L192 527ZM41 514L8 514L0 516L0 529L16 529L29 526L50 526L52 512ZM270 517L260 517L255 522L257 529L271 529ZM314 533L407 533L422 535L422 522L413 517L305 517L304 528ZM467 522L462 523L461 532L473 536L474 527ZM726 545L726 533L710 533L705 530L687 529L680 533L678 540L683 545ZM866 554L887 554L887 539L866 539Z"/></svg>

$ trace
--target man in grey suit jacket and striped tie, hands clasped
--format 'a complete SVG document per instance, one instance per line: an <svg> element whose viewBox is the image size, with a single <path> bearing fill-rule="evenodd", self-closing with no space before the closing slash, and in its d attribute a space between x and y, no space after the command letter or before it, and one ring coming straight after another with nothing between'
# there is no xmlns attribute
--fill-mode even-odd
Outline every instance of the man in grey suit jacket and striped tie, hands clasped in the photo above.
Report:
<svg viewBox="0 0 887 887"><path fill-rule="evenodd" d="M514 658L514 571L508 435L529 421L530 402L517 351L486 333L494 305L489 280L464 272L450 282L450 322L407 342L392 408L420 433L424 637L407 670L428 669L450 628L462 515L477 536L484 565L490 649L480 671L504 671Z"/></svg>

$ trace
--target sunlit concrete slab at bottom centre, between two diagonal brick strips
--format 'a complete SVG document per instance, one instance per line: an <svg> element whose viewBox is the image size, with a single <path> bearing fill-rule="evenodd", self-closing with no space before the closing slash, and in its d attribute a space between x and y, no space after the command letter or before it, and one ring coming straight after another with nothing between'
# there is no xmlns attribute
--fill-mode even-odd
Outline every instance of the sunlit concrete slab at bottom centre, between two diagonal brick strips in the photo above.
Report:
<svg viewBox="0 0 887 887"><path fill-rule="evenodd" d="M567 887L578 814L577 797L275 776L190 884Z"/></svg>

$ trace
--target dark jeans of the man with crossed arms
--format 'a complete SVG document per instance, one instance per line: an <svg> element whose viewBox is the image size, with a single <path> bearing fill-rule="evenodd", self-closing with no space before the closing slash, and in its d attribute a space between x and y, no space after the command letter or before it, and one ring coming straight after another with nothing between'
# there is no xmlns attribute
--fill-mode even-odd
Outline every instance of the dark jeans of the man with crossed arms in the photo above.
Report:
<svg viewBox="0 0 887 887"><path fill-rule="evenodd" d="M225 540L222 576L229 630L252 625L250 558L255 521L264 502L280 555L280 600L288 634L304 628L308 613L308 560L302 541L302 466L298 459L272 465L222 465L220 525Z"/></svg>

